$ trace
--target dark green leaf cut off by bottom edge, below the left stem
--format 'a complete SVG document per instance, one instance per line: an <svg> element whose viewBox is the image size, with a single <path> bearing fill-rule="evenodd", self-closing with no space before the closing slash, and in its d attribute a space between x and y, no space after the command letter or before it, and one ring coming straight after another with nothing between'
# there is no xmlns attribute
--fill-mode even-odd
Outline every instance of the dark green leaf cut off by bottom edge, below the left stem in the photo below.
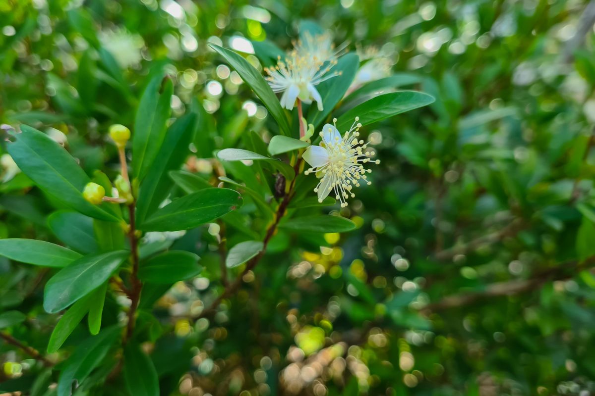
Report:
<svg viewBox="0 0 595 396"><path fill-rule="evenodd" d="M124 349L124 383L130 396L159 396L155 366L135 344Z"/></svg>

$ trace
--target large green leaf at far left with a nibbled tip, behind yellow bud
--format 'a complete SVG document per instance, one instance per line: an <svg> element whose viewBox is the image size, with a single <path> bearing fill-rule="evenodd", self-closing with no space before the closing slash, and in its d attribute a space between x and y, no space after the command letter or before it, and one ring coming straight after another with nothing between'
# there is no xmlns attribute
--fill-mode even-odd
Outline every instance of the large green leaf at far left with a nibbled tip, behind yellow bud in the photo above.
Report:
<svg viewBox="0 0 595 396"><path fill-rule="evenodd" d="M21 125L15 138L8 144L8 153L40 189L87 216L118 221L83 198L83 188L91 180L64 147L27 125Z"/></svg>

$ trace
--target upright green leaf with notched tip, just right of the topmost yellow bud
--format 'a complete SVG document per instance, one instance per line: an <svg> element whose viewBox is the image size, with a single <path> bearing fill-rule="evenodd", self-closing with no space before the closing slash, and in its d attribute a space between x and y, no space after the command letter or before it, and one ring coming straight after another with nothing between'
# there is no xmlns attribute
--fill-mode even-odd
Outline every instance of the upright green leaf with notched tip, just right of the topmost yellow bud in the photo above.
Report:
<svg viewBox="0 0 595 396"><path fill-rule="evenodd" d="M174 85L166 77L161 91L162 81L163 74L159 74L149 82L136 110L132 137L132 170L134 177L138 179L146 175L155 160L165 138L165 122L171 115Z"/></svg>

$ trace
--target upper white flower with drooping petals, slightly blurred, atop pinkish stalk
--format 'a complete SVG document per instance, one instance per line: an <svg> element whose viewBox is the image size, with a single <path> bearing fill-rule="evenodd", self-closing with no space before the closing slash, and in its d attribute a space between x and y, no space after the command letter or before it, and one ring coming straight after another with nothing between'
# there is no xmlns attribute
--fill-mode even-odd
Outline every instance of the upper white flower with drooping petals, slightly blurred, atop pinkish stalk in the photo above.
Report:
<svg viewBox="0 0 595 396"><path fill-rule="evenodd" d="M323 67L324 62L300 56L293 51L285 61L279 59L277 66L265 68L265 72L269 75L267 81L273 92L283 92L280 101L282 107L292 110L296 99L299 98L308 104L315 100L318 110L322 110L322 97L315 86L339 75L337 72L329 74L330 69L336 64L337 61L333 60Z"/></svg>

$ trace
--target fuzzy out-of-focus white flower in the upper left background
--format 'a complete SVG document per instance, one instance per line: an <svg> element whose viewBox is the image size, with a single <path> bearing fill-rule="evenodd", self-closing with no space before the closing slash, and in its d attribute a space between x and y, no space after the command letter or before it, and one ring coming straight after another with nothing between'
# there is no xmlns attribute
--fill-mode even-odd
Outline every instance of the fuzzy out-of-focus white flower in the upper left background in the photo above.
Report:
<svg viewBox="0 0 595 396"><path fill-rule="evenodd" d="M140 53L140 50L145 46L143 38L138 34L129 33L124 28L101 31L99 41L123 69L137 66L143 59Z"/></svg>

